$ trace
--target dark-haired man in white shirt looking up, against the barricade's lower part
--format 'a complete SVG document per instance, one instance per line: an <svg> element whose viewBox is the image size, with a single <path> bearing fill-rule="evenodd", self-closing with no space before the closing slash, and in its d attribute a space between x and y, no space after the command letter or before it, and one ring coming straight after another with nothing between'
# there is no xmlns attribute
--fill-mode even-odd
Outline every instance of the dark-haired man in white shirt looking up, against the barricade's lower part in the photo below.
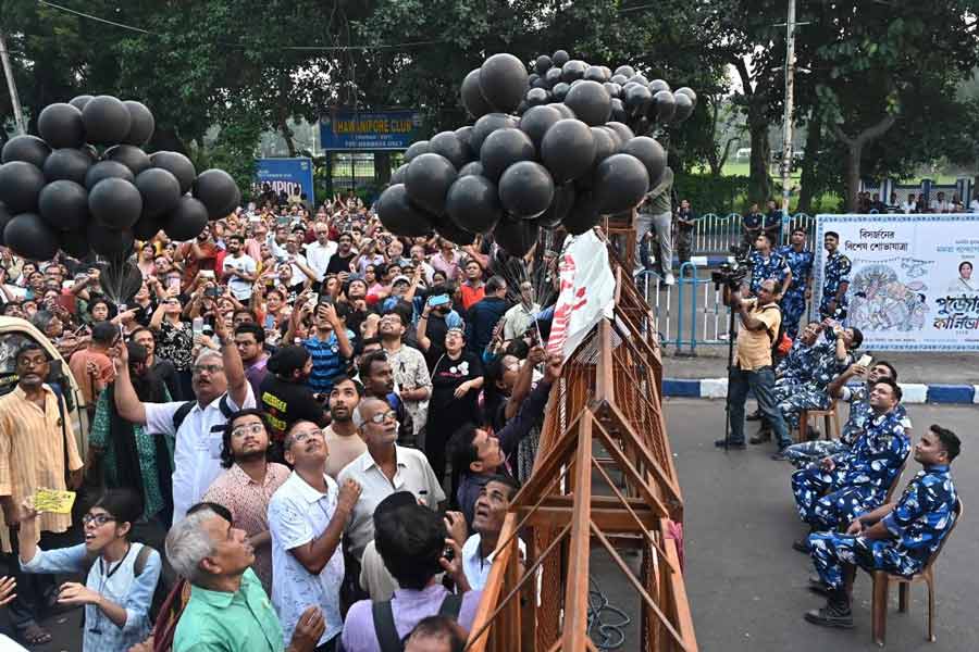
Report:
<svg viewBox="0 0 979 652"><path fill-rule="evenodd" d="M475 515L472 518L472 529L475 534L462 546L462 570L469 586L474 590L486 586L493 560L496 557L496 548L501 543L499 532L504 519L510 509L510 501L519 489L520 485L510 476L493 476L476 499ZM518 541L518 547L523 554L525 550L523 541Z"/></svg>

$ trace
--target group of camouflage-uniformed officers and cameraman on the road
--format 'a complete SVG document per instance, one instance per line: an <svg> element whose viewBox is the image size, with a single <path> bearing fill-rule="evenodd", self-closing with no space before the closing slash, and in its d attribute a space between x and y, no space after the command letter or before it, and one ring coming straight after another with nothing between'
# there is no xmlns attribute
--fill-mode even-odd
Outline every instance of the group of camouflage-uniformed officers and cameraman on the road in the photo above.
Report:
<svg viewBox="0 0 979 652"><path fill-rule="evenodd" d="M837 251L833 231L823 241L820 319L795 335L811 292L813 252L806 251L803 229L792 233L791 242L772 251L770 237L759 233L751 276L724 288L724 303L738 314L740 329L728 378L730 435L715 444L747 448L744 408L751 389L758 411L747 418L761 424L751 443L774 439L771 457L797 467L791 489L808 535L793 548L811 555L816 574L809 588L827 597L826 605L805 618L850 628L857 567L912 576L954 526L961 505L950 466L961 442L951 430L931 425L912 446L897 371L867 354L857 358L863 334L845 322L850 261ZM785 334L791 339L783 339ZM809 430L811 439L793 443L790 432L807 411L842 403L850 412L839 439L827 434L820 440ZM921 469L894 499L912 450Z"/></svg>

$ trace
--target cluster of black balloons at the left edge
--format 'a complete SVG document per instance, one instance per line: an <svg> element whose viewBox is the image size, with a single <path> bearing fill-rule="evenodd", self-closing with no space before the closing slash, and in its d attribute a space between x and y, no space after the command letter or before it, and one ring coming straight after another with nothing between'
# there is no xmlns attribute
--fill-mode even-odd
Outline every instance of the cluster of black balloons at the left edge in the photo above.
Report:
<svg viewBox="0 0 979 652"><path fill-rule="evenodd" d="M142 150L154 126L144 104L111 96L46 106L38 136L12 138L0 154L0 244L36 261L59 249L117 259L135 239L163 229L189 240L233 212L241 193L226 172L197 174L178 152Z"/></svg>

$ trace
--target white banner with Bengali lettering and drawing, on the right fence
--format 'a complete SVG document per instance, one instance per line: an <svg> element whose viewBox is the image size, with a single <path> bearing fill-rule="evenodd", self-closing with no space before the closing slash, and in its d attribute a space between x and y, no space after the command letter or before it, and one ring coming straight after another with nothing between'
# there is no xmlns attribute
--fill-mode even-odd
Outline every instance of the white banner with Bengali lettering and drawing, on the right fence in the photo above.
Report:
<svg viewBox="0 0 979 652"><path fill-rule="evenodd" d="M817 215L814 301L828 231L851 262L846 323L867 350L979 350L979 215Z"/></svg>

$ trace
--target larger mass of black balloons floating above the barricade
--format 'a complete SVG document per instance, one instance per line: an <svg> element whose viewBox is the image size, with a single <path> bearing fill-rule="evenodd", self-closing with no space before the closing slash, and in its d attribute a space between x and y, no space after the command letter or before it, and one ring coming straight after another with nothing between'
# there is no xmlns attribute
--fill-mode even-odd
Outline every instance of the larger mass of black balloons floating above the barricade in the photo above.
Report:
<svg viewBox="0 0 979 652"><path fill-rule="evenodd" d="M466 76L462 103L475 124L408 149L381 195L385 228L408 237L434 229L460 244L492 233L520 256L541 227L578 235L602 215L642 202L662 176L667 154L635 128L679 124L693 111L694 92L672 93L659 88L665 82L646 82L628 66L611 75L563 51L537 58L533 67L529 73L517 57L494 54ZM629 100L643 95L635 88L648 101Z"/></svg>

